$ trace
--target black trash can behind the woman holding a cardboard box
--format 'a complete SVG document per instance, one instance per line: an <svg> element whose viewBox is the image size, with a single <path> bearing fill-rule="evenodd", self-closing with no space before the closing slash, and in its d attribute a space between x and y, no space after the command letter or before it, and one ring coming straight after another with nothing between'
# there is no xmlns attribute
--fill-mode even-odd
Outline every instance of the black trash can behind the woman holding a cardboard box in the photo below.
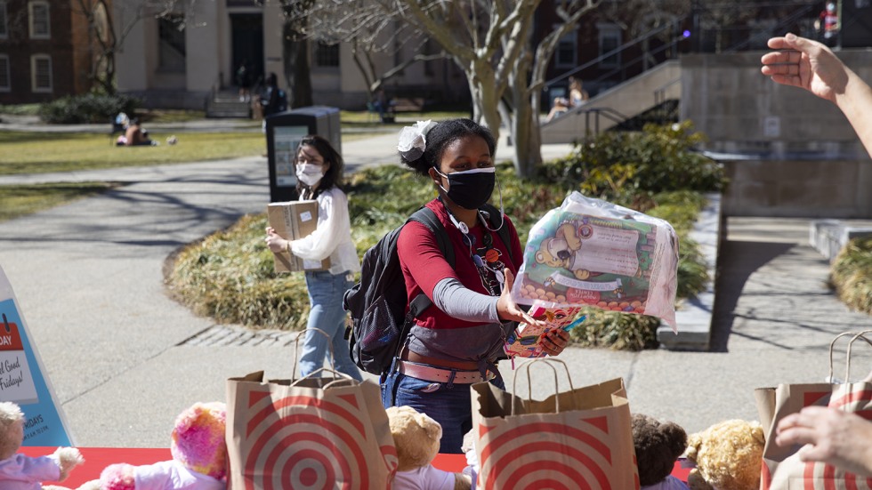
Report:
<svg viewBox="0 0 872 490"><path fill-rule="evenodd" d="M339 108L295 108L277 112L264 120L270 165L270 203L295 201L298 196L294 160L303 136L317 134L330 141L342 155Z"/></svg>

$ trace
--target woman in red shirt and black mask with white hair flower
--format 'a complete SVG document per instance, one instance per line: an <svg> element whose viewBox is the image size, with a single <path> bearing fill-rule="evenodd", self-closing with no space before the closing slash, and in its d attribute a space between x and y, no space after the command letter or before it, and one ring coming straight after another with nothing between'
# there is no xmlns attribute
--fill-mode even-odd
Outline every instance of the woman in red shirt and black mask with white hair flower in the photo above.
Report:
<svg viewBox="0 0 872 490"><path fill-rule="evenodd" d="M469 119L418 123L400 133L402 163L438 193L426 206L445 228L455 264L425 225L403 227L397 253L408 298L424 293L432 306L415 318L396 370L383 376L383 402L412 406L440 422L440 453L461 453L472 430L470 384L488 380L505 388L497 360L505 358L513 322L540 323L509 294L523 261L512 221L505 215L488 221L480 211L495 189L496 146L488 129ZM499 227L508 227L511 243L503 243ZM557 355L568 341L569 333L558 329L543 343Z"/></svg>

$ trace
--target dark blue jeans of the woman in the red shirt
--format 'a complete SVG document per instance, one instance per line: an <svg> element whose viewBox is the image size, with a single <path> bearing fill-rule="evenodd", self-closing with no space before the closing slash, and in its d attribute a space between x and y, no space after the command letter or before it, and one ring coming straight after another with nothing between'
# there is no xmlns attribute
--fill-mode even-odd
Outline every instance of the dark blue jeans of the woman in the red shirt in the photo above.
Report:
<svg viewBox="0 0 872 490"><path fill-rule="evenodd" d="M505 390L500 376L490 383ZM392 369L381 385L385 407L406 405L427 414L442 426L439 452L463 454L464 435L472 430L471 384L428 382Z"/></svg>

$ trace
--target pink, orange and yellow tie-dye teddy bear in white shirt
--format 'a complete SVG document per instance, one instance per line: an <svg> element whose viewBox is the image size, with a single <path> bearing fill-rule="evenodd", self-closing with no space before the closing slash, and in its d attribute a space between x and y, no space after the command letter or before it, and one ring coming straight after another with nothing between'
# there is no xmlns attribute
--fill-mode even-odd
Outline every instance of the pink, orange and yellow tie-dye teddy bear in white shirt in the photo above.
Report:
<svg viewBox="0 0 872 490"><path fill-rule="evenodd" d="M78 490L224 490L227 487L227 409L222 402L195 403L175 419L166 462L110 464L100 479Z"/></svg>

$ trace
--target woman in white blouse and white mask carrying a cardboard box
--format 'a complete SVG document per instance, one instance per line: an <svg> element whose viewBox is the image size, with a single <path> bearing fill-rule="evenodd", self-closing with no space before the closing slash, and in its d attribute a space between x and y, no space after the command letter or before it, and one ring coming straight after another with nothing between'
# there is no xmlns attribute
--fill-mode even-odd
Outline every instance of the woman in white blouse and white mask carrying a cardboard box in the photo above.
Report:
<svg viewBox="0 0 872 490"><path fill-rule="evenodd" d="M311 311L300 356L300 374L306 376L324 365L330 342L336 370L362 380L344 339L343 294L354 284L354 272L360 270L360 262L351 242L348 198L338 187L342 182L343 159L326 139L306 136L297 150L295 169L300 200L318 201L318 226L311 235L298 240L286 240L267 227L267 246L272 252L287 251L308 261L330 258L330 269L305 272ZM327 333L329 339L314 328Z"/></svg>

